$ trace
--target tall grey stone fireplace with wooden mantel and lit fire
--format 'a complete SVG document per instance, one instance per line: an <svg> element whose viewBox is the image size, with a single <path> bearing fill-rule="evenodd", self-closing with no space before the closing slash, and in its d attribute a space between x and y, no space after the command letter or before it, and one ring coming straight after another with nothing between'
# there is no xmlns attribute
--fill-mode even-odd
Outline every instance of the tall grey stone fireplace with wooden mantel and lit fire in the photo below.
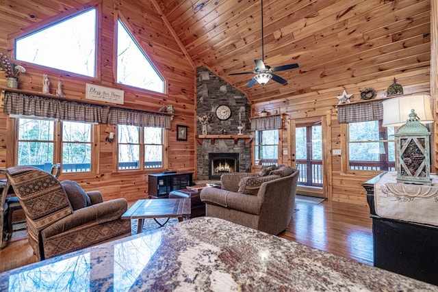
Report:
<svg viewBox="0 0 438 292"><path fill-rule="evenodd" d="M196 116L210 114L213 120L208 124L208 135L203 135L201 123L196 122L196 179L218 181L224 172L249 172L250 143L237 135L240 124L243 134L250 133L248 99L207 68L197 68L197 77ZM231 109L227 120L216 117L220 105Z"/></svg>

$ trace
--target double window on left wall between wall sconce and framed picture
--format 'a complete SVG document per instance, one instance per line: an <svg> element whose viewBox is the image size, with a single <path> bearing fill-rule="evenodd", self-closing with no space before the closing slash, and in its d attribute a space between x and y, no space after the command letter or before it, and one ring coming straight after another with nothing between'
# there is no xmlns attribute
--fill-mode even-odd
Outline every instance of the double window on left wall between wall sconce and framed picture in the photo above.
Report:
<svg viewBox="0 0 438 292"><path fill-rule="evenodd" d="M118 169L163 167L164 129L119 124Z"/></svg>

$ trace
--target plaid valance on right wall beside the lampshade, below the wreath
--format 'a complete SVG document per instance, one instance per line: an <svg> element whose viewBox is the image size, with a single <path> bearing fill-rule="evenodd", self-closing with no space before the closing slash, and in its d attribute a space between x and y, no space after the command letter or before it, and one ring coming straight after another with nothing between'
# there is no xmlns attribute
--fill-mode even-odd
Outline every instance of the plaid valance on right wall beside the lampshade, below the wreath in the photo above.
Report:
<svg viewBox="0 0 438 292"><path fill-rule="evenodd" d="M368 122L383 119L383 105L381 101L367 103L351 103L337 107L337 122Z"/></svg>

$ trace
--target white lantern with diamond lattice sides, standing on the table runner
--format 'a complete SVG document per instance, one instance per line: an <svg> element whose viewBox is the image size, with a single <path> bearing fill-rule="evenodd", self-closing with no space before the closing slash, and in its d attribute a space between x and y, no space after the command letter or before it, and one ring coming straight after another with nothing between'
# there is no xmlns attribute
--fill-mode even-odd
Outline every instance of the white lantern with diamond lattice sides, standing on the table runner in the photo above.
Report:
<svg viewBox="0 0 438 292"><path fill-rule="evenodd" d="M411 109L409 120L395 134L397 182L430 185L430 132Z"/></svg>

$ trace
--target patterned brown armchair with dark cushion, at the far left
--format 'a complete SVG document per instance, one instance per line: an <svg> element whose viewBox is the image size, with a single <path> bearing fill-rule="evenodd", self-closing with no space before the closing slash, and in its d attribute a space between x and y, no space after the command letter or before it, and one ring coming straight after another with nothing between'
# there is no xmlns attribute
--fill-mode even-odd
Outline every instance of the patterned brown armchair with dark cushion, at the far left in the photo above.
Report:
<svg viewBox="0 0 438 292"><path fill-rule="evenodd" d="M29 243L40 260L131 235L123 198L103 202L99 191L86 193L75 181L58 181L31 166L6 170L27 220Z"/></svg>

